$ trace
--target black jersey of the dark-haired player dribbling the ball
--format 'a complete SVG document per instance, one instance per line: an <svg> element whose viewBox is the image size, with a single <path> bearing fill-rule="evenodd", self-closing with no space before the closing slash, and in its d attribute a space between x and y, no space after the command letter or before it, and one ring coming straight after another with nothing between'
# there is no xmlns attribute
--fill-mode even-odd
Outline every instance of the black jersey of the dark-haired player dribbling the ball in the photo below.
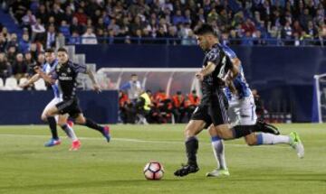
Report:
<svg viewBox="0 0 326 194"><path fill-rule="evenodd" d="M213 92L225 86L222 79L225 77L227 70L231 68L230 60L218 44L215 44L210 51L206 51L203 68L208 65L208 62L216 64L216 69L210 75L204 77L201 87L203 93L201 104L209 104Z"/></svg>

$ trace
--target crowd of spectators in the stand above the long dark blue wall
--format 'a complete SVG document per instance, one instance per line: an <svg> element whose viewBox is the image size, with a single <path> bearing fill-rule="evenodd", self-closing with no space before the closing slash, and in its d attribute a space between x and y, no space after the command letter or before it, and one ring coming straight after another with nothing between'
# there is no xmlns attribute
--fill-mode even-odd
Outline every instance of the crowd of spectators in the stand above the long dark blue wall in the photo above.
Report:
<svg viewBox="0 0 326 194"><path fill-rule="evenodd" d="M226 44L298 46L325 43L325 5L324 0L17 0L7 7L28 29L30 41L46 46L58 35L72 44L196 44L194 30L202 23L216 26Z"/></svg>

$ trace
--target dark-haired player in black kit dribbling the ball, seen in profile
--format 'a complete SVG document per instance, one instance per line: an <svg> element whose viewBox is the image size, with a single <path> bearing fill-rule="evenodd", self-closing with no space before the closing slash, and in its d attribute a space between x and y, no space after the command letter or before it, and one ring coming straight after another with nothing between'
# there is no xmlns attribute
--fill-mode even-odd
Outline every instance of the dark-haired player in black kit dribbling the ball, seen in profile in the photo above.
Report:
<svg viewBox="0 0 326 194"><path fill-rule="evenodd" d="M253 132L279 134L277 130L263 122L234 127L229 125L226 112L227 99L223 88L225 88L226 82L235 78L238 69L219 47L217 34L211 25L203 24L197 29L196 35L198 45L206 54L203 69L196 74L197 79L201 81L203 97L186 126L187 164L174 173L180 177L199 171L196 135L209 125L214 125L218 136L225 140L240 138Z"/></svg>

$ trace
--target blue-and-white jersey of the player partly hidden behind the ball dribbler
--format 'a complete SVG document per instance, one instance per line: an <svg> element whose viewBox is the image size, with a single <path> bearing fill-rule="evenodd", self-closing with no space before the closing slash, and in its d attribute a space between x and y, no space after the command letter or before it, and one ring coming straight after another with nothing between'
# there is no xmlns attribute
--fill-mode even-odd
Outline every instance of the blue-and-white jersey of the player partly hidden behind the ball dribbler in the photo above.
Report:
<svg viewBox="0 0 326 194"><path fill-rule="evenodd" d="M235 59L236 54L235 51L232 51L232 49L226 45L219 45L223 51L225 51L225 54L230 58L230 59ZM249 88L248 83L245 80L245 73L244 73L244 69L243 66L240 64L239 67L239 74L235 77L234 79L234 85L235 85L235 89L237 91L237 96L238 98L244 98L244 97L249 97L251 95L251 90ZM233 96L233 94L231 93L229 88L225 88L225 95L226 97L230 100Z"/></svg>

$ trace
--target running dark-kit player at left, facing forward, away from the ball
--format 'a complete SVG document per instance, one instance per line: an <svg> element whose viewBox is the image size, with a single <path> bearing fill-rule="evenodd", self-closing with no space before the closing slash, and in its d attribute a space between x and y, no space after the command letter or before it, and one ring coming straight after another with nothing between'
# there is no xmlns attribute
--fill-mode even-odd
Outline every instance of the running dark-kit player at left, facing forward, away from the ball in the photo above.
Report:
<svg viewBox="0 0 326 194"><path fill-rule="evenodd" d="M75 123L78 125L86 125L89 128L99 131L107 140L110 142L110 129L109 126L101 126L93 122L91 119L82 115L82 109L79 106L79 99L76 97L77 87L77 75L78 73L88 74L95 91L100 92L101 88L96 82L91 69L80 64L75 64L68 58L68 53L64 48L58 50L59 64L57 67L50 72L45 74L41 69L35 68L38 73L45 81L54 84L58 81L59 89L62 91L62 102L49 108L45 115L50 127L55 127L56 122L54 115L63 115L68 113L72 118L75 119Z"/></svg>

